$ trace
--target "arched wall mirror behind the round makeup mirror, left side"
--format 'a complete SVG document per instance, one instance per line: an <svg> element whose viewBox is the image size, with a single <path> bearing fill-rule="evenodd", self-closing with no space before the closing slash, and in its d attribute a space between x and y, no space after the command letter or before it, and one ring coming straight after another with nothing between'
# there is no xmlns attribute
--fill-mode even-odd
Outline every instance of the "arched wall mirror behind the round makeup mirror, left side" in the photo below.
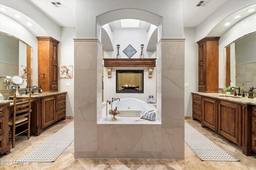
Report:
<svg viewBox="0 0 256 170"><path fill-rule="evenodd" d="M32 86L32 48L21 39L0 32L0 49L0 90L13 86L6 86L6 76L21 76L24 84L20 88Z"/></svg>

